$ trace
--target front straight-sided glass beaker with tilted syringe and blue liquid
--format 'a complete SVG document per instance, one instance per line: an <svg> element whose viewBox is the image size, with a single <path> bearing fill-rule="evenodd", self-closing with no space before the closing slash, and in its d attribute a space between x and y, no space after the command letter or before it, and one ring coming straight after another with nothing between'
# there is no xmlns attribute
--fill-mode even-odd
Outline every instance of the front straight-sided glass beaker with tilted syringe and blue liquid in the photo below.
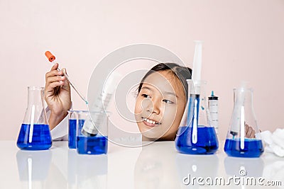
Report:
<svg viewBox="0 0 284 189"><path fill-rule="evenodd" d="M90 116L91 115L91 116ZM100 116L102 115L102 116ZM85 122L93 124L91 118L100 118L100 125L96 125L97 134L84 135L82 127ZM96 122L97 120L95 120ZM77 152L78 154L107 154L107 129L109 117L104 112L77 111Z"/></svg>

